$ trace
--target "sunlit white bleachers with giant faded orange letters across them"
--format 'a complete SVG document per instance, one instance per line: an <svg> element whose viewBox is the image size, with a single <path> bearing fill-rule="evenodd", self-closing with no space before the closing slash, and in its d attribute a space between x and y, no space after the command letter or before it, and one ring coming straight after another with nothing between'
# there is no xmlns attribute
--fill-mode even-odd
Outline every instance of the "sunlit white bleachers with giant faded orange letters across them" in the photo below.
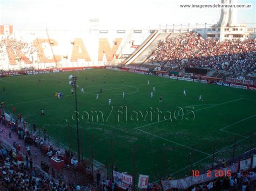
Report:
<svg viewBox="0 0 256 191"><path fill-rule="evenodd" d="M0 36L0 66L4 70L17 70L117 65L122 62L119 59L122 54L132 54L149 36L149 30L97 34L90 31L14 31L10 36ZM3 39L15 39L28 44L26 49L30 46L34 49L29 54L24 53L24 47L15 52L5 46L7 40Z"/></svg>

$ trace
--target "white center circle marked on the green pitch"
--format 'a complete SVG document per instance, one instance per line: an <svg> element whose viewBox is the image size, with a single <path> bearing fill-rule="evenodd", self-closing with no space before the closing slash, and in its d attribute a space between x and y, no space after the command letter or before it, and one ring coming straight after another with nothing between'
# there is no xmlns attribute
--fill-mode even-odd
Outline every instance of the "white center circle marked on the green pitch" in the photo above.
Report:
<svg viewBox="0 0 256 191"><path fill-rule="evenodd" d="M90 87L98 87L98 86L101 86L101 87L105 87L105 86L119 86L119 87L116 87L116 88L109 88L109 89L102 89L103 90L103 93L100 93L100 95L106 95L106 96L114 96L114 95L122 95L122 92L119 93L119 94L105 94L104 91L108 91L108 90L115 90L115 89L125 89L127 87L130 87L130 88L133 88L134 91L130 92L130 93L125 93L126 95L129 95L129 94L134 94L134 93L137 93L139 91L139 88L135 87L135 86L123 86L123 85L120 85L120 84L99 84L99 85L95 85L95 86L88 86L88 87L85 87L85 94L89 94L89 95L96 95L97 93L99 93L99 90L98 91L91 91L88 90L89 92L87 92L87 88L90 88Z"/></svg>

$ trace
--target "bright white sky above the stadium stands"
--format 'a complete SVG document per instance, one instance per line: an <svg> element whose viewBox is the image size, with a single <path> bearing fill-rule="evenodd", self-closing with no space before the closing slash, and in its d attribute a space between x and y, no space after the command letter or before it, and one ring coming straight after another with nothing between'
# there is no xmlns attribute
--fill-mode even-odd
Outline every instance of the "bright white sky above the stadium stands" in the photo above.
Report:
<svg viewBox="0 0 256 191"><path fill-rule="evenodd" d="M14 30L89 30L89 19L99 19L99 30L159 29L159 25L215 24L219 8L180 8L180 4L218 4L220 0L0 0L0 24ZM255 0L238 0L238 23L254 23Z"/></svg>

